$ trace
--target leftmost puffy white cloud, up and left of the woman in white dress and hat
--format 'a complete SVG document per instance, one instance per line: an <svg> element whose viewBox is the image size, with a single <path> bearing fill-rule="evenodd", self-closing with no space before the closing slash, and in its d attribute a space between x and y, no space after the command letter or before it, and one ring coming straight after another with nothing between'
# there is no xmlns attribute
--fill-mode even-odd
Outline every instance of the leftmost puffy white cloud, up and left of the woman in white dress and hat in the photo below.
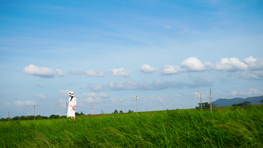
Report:
<svg viewBox="0 0 263 148"><path fill-rule="evenodd" d="M38 67L33 64L25 67L23 69L23 73L25 74L33 74L42 78L54 77L54 72L50 68L46 67Z"/></svg>

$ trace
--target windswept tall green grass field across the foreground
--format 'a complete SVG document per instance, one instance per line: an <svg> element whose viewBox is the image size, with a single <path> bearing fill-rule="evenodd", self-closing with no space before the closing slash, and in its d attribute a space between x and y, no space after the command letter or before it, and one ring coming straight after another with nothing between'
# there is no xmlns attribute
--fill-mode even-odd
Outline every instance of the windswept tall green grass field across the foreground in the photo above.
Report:
<svg viewBox="0 0 263 148"><path fill-rule="evenodd" d="M263 148L263 106L0 122L0 148Z"/></svg>

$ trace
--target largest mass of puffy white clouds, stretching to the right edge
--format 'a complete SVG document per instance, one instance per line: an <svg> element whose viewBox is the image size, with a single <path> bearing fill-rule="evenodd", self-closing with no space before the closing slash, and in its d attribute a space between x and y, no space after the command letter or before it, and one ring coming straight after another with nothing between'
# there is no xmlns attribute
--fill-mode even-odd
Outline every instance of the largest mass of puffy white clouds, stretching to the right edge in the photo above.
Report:
<svg viewBox="0 0 263 148"><path fill-rule="evenodd" d="M196 57L189 57L181 63L181 66L163 66L161 74L178 74L208 70L227 71L232 74L238 74L243 78L259 79L263 77L261 72L261 70L263 70L263 59L256 59L250 56L245 58L244 62L241 62L235 57L229 59L222 58L220 62L215 62L215 65L213 65L211 62L202 63Z"/></svg>

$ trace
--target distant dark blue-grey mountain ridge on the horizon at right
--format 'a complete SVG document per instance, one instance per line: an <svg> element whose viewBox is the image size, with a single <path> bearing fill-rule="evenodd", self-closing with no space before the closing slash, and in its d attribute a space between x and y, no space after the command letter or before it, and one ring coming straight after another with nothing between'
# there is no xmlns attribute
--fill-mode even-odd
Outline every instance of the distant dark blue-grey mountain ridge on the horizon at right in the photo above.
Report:
<svg viewBox="0 0 263 148"><path fill-rule="evenodd" d="M248 97L246 99L243 99L243 98L218 99L216 101L213 101L213 103L217 104L217 107L230 107L233 104L239 104L245 101L251 102L251 105L256 105L256 104L259 104L259 102L262 99L263 99L263 96Z"/></svg>

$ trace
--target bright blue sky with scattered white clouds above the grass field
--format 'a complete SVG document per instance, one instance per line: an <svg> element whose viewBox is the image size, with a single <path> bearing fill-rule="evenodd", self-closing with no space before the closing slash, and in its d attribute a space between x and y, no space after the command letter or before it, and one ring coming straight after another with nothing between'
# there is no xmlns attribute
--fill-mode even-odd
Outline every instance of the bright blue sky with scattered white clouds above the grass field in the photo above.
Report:
<svg viewBox="0 0 263 148"><path fill-rule="evenodd" d="M263 95L262 0L0 1L0 118ZM198 93L197 93L198 90ZM171 94L171 95L170 95ZM171 96L171 97L170 97ZM170 99L171 98L171 99ZM171 100L171 102L170 102ZM61 104L61 105L60 105ZM94 112L93 112L94 113Z"/></svg>

